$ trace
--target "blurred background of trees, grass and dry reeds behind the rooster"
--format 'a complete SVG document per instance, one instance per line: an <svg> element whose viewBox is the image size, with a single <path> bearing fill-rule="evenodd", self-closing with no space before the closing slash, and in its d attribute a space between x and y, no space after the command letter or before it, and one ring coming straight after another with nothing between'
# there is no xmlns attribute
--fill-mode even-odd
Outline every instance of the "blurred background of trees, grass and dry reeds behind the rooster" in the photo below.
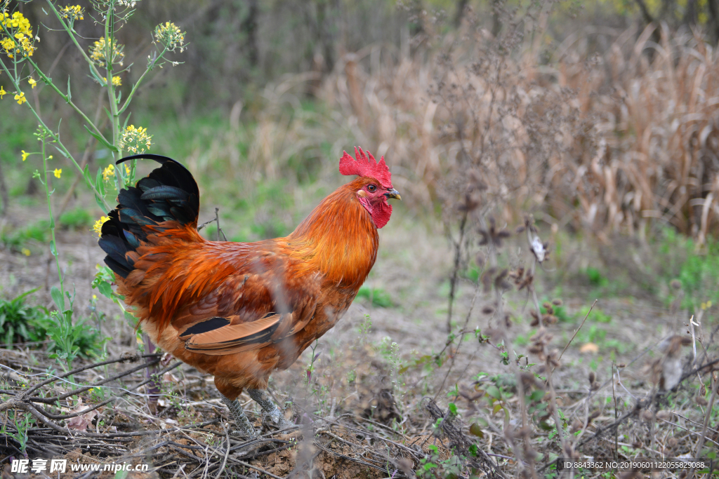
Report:
<svg viewBox="0 0 719 479"><path fill-rule="evenodd" d="M19 9L53 28L41 1ZM716 0L143 0L118 38L126 63L144 65L153 25L187 32L181 64L152 73L130 123L198 175L232 239L288 233L358 144L387 157L416 220L446 226L481 201L511 223L531 212L602 241L669 226L703 245L719 224L716 12ZM87 47L102 34L89 15L76 29ZM74 75L74 96L102 118L79 53L38 30L35 60ZM122 73L124 93L140 70ZM28 93L78 162L108 162L60 98ZM20 157L35 122L12 97L0 105L4 212L33 204L35 168ZM78 182L55 182L60 213L83 204Z"/></svg>

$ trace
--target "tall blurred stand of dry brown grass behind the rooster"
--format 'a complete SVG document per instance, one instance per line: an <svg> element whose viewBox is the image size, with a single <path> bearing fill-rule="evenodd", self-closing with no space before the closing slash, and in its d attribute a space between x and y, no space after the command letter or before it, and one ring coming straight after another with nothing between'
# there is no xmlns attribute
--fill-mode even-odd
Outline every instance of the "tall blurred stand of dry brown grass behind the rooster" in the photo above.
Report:
<svg viewBox="0 0 719 479"><path fill-rule="evenodd" d="M493 39L470 17L412 57L367 47L344 57L321 96L425 205L475 172L507 219L539 209L603 238L644 238L657 224L702 242L717 233L712 45L665 27L656 45L650 26L577 32L548 52L538 22L522 32L533 42ZM590 51L590 34L609 39L606 52ZM554 60L540 65L540 54Z"/></svg>

